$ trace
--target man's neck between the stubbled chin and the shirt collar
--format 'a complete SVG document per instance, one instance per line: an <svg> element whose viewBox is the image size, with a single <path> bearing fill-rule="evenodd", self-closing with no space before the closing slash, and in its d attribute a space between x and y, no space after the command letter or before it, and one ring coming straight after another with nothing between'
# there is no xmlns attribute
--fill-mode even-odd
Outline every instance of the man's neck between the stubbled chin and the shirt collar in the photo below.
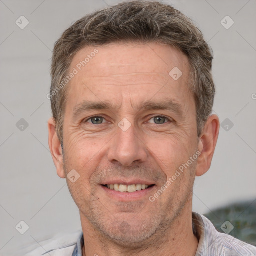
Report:
<svg viewBox="0 0 256 256"><path fill-rule="evenodd" d="M156 233L140 247L127 248L109 240L96 230L85 216L80 213L84 247L83 256L194 256L198 246L198 239L192 230L191 205L184 206L182 213L165 228L165 231Z"/></svg>

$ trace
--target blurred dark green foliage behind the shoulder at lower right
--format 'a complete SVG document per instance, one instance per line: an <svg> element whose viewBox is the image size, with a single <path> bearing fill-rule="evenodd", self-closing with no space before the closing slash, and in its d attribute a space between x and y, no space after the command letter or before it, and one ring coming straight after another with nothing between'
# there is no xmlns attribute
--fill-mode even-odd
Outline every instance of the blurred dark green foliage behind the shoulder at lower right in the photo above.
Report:
<svg viewBox="0 0 256 256"><path fill-rule="evenodd" d="M256 200L233 203L203 215L221 233L220 226L228 220L234 226L229 235L256 246Z"/></svg>

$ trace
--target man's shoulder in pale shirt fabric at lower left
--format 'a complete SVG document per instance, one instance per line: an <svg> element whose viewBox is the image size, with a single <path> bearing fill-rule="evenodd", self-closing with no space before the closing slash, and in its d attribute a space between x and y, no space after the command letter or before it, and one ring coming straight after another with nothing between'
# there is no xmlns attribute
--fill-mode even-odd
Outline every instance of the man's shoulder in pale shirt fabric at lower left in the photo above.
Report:
<svg viewBox="0 0 256 256"><path fill-rule="evenodd" d="M71 256L76 247L81 231L72 234L56 235L51 239L37 241L26 248L25 256Z"/></svg>

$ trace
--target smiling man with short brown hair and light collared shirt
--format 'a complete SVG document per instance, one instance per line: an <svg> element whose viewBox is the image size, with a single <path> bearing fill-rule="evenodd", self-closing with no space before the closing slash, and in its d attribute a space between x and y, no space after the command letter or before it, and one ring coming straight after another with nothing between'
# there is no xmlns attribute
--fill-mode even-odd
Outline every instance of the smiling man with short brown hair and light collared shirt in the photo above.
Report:
<svg viewBox="0 0 256 256"><path fill-rule="evenodd" d="M256 255L192 212L219 132L211 62L201 32L158 2L120 3L63 33L49 147L82 232L44 254Z"/></svg>

